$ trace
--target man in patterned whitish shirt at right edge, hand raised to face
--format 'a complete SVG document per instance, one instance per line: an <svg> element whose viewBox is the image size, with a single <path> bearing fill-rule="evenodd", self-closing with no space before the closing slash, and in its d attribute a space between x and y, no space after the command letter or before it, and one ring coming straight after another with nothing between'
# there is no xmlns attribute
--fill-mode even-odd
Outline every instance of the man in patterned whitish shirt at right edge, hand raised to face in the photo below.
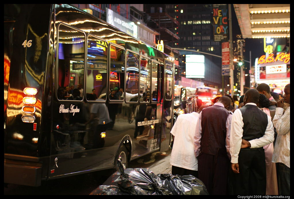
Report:
<svg viewBox="0 0 294 199"><path fill-rule="evenodd" d="M290 107L283 115L284 102L290 104L290 84L284 89L284 98L278 101L273 124L277 129L273 162L278 162L278 186L280 195L290 195Z"/></svg>

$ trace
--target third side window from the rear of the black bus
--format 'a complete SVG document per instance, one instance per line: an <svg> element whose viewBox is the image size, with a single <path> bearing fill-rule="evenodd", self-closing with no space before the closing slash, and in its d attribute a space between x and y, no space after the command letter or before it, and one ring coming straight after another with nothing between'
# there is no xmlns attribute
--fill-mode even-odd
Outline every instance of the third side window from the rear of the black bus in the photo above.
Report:
<svg viewBox="0 0 294 199"><path fill-rule="evenodd" d="M110 44L109 100L124 100L125 54L123 47Z"/></svg>

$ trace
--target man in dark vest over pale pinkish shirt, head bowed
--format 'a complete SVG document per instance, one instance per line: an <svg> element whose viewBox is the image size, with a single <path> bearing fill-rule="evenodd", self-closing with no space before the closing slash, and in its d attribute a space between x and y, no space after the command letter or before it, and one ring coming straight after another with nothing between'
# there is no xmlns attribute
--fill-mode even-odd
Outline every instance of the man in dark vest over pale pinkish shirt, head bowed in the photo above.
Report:
<svg viewBox="0 0 294 199"><path fill-rule="evenodd" d="M213 195L227 193L232 113L226 108L230 105L229 97L220 97L214 105L202 110L196 125L194 144L198 177Z"/></svg>

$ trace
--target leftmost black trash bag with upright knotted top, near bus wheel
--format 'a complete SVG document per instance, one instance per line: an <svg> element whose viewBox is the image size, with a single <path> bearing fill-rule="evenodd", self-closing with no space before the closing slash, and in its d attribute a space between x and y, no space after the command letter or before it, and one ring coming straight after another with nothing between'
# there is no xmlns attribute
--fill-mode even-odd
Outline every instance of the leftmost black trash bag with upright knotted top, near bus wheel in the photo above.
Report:
<svg viewBox="0 0 294 199"><path fill-rule="evenodd" d="M147 195L143 189L128 178L128 174L124 173L120 160L117 161L116 168L119 172L117 171L111 175L106 182L112 179L115 180L109 184L104 182L103 185L93 190L90 195ZM112 178L114 176L115 178Z"/></svg>

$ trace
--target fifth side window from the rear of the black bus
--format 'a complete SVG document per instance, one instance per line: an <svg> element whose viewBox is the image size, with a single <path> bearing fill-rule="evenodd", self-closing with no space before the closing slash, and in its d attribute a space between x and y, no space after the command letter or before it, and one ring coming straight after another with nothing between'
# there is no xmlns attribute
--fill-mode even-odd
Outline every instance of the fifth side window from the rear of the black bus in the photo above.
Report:
<svg viewBox="0 0 294 199"><path fill-rule="evenodd" d="M140 94L147 97L146 101L142 98L140 103L150 102L150 88L151 88L151 61L147 57L141 55L140 58ZM145 94L144 94L145 93Z"/></svg>

